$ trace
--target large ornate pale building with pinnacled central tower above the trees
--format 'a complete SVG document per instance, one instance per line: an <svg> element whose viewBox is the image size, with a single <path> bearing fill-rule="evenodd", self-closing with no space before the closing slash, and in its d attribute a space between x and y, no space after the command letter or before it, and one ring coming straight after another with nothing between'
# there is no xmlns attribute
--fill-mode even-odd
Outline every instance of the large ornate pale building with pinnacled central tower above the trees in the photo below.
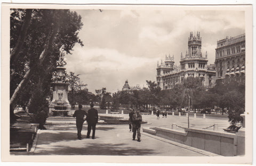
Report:
<svg viewBox="0 0 256 166"><path fill-rule="evenodd" d="M200 77L206 87L215 84L215 65L207 65L207 51L203 57L201 53L202 38L200 32L193 36L190 32L188 38L188 51L180 57L180 67L174 65L174 57L165 56L164 63L157 63L157 84L161 89L171 89L175 84L183 83L188 76Z"/></svg>

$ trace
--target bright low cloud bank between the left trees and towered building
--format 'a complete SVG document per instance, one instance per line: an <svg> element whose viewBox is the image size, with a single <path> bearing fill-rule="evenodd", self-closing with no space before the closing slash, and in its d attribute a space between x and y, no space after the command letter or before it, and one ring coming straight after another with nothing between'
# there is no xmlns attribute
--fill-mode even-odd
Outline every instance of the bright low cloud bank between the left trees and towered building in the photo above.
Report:
<svg viewBox="0 0 256 166"><path fill-rule="evenodd" d="M81 79L91 91L108 86L107 89L114 92L121 84L123 86L126 79L134 84L145 82L141 73L151 71L148 76L145 75L150 77L155 72L157 58L132 57L107 48L77 48L76 54L67 56L67 61L67 71L81 74ZM152 64L154 66L150 66Z"/></svg>

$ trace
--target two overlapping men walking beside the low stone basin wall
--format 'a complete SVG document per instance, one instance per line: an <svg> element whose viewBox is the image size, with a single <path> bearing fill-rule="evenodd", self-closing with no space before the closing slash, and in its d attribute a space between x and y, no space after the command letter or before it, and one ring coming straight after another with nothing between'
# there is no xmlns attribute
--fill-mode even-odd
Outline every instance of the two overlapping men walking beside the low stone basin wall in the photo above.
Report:
<svg viewBox="0 0 256 166"><path fill-rule="evenodd" d="M140 114L140 110L137 110L136 112L134 112L134 110L132 110L129 113L129 128L131 131L131 124L132 124L132 140L135 140L136 137L136 133L137 133L137 141L140 142L140 127L141 127L141 121L142 121L142 117Z"/></svg>

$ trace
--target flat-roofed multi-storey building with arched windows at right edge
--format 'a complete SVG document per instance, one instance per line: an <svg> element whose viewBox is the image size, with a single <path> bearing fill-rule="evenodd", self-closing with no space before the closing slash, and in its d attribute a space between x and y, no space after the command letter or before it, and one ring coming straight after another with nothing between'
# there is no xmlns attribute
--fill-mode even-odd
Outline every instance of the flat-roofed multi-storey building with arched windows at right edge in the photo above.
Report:
<svg viewBox="0 0 256 166"><path fill-rule="evenodd" d="M216 81L245 82L245 34L217 41Z"/></svg>

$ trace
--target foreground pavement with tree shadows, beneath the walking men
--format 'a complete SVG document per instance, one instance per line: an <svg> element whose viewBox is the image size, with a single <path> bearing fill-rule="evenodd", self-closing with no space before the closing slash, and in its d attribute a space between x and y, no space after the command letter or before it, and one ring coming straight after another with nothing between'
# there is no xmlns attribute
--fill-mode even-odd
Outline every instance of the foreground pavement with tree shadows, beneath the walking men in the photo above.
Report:
<svg viewBox="0 0 256 166"><path fill-rule="evenodd" d="M85 137L87 125L82 135ZM143 127L143 125L142 125ZM205 156L142 133L132 141L129 125L97 125L95 139L77 139L75 125L46 126L40 130L34 155L161 155Z"/></svg>

